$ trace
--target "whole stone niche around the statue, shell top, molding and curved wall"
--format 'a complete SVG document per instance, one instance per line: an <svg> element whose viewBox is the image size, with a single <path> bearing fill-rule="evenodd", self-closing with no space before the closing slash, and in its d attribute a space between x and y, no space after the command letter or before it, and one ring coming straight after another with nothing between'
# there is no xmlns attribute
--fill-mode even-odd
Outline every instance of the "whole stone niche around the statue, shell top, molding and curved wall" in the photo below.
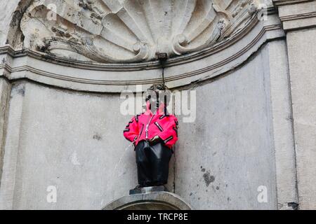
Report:
<svg viewBox="0 0 316 224"><path fill-rule="evenodd" d="M287 49L273 6L268 20L258 20L261 0L7 2L14 16L0 46L1 108L8 111L1 209L275 209L294 201L277 195L295 181L279 181L275 192L287 175L275 171L274 152L284 144L274 148L274 139L291 136L291 128ZM167 186L176 195L126 195L137 179L133 151L124 150L121 127L130 116L119 112L119 93L162 82L159 52L169 56L166 85L197 90L197 120L179 116ZM125 168L116 175L118 161ZM51 185L60 195L55 204L46 202ZM272 190L259 204L262 185Z"/></svg>

